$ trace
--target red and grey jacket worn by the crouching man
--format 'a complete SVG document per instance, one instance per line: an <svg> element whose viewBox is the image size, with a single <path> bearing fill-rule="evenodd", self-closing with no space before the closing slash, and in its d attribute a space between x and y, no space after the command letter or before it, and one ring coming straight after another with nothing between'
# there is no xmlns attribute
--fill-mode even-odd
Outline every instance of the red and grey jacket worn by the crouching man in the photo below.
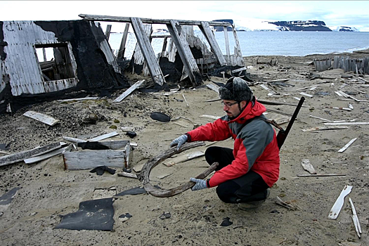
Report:
<svg viewBox="0 0 369 246"><path fill-rule="evenodd" d="M215 172L208 182L209 187L237 179L250 170L259 174L269 187L276 183L280 167L279 148L276 131L271 124L260 119L265 118L262 115L265 111L264 105L255 100L254 103L248 103L245 110L235 119L230 120L226 115L188 131L188 141L222 141L229 137L235 141L235 160Z"/></svg>

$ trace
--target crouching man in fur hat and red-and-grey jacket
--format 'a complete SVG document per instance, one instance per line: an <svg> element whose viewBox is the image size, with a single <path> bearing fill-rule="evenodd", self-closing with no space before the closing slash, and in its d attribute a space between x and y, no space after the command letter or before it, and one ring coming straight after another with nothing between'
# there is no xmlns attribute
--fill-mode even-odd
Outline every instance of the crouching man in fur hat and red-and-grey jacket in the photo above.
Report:
<svg viewBox="0 0 369 246"><path fill-rule="evenodd" d="M278 180L280 157L276 131L264 121L266 111L240 78L228 79L219 88L226 116L216 119L174 139L170 146L191 141L222 141L232 137L231 148L212 146L205 151L209 164L219 162L207 181L193 179L192 190L217 186L216 194L223 202L238 203L240 209L258 207L268 198L269 188Z"/></svg>

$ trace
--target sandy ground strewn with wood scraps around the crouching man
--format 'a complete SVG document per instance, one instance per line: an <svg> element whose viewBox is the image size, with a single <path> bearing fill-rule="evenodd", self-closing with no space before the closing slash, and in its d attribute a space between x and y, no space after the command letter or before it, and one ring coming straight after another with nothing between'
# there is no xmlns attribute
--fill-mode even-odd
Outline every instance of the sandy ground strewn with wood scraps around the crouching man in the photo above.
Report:
<svg viewBox="0 0 369 246"><path fill-rule="evenodd" d="M363 57L369 56L369 53L347 56ZM369 100L369 88L365 86L368 84L363 84L355 75L352 79L342 79L342 70L313 72L313 58L323 57L327 56L245 58L250 66L248 72L255 82L290 79L285 86L267 85L277 93L274 96L267 96L269 91L257 84L251 86L260 100L297 104L294 97L301 97L299 92L313 95L312 98L306 97L305 107L299 112L298 120L280 151L280 179L271 189L268 200L258 209L246 212L235 205L225 204L217 198L214 188L196 192L187 190L171 198L155 198L146 194L125 195L113 203L113 231L56 229L60 215L77 212L79 202L92 200L96 189L115 187L115 192L119 193L141 186L137 179L117 176L117 173L112 175L105 172L103 176L98 176L89 170L65 170L63 156L58 155L35 164L18 162L0 167L0 195L20 187L10 205L0 206L1 245L369 245L368 126L302 131L325 126L322 119L310 115L330 121L356 119L356 122L369 122L368 102L342 101L339 99L343 97L335 93L342 90L354 98ZM278 64L266 64L270 60L278 60ZM309 79L312 72L328 79ZM369 82L368 75L361 78ZM212 77L212 80L221 82L222 79ZM212 84L209 81L206 83ZM318 87L313 91L297 91L315 84ZM344 84L347 86L342 88ZM16 153L63 141L62 136L88 139L117 131L118 136L106 141L130 140L137 143L130 166L139 169L150 158L167 150L172 139L193 129L195 124L212 121L201 115L224 115L219 101L205 102L217 98L217 94L206 86L182 89L169 96L165 96L164 92L135 91L121 103L112 103L122 92L117 91L112 98L97 101L40 103L23 108L13 116L1 115L0 143L10 143L8 151ZM186 97L189 107L182 95ZM354 108L351 111L326 108L349 108L349 103ZM295 107L266 105L266 108L292 114ZM27 110L60 119L60 124L48 127L22 116ZM164 112L172 119L187 119L162 123L151 119L150 112ZM91 124L91 117L96 119L96 124ZM277 122L283 121L283 117L288 118L271 111L266 117ZM110 128L113 125L117 129ZM137 136L129 138L122 127L135 131ZM282 127L287 127L287 124ZM344 153L338 153L352 138L357 140ZM215 145L232 147L233 141ZM205 151L206 148L202 146L187 150L178 156ZM298 177L297 174L308 174L302 168L302 159L309 159L318 174L346 176ZM206 168L204 157L171 167L158 164L151 171L150 180L162 188L173 188ZM337 220L328 219L332 205L346 185L353 188ZM277 205L276 196L299 207L299 210L292 211ZM356 206L363 231L361 239L356 235L351 220L348 198ZM169 212L170 218L162 219L160 215L164 212ZM132 215L129 220L118 218L126 213ZM221 226L227 217L233 224Z"/></svg>

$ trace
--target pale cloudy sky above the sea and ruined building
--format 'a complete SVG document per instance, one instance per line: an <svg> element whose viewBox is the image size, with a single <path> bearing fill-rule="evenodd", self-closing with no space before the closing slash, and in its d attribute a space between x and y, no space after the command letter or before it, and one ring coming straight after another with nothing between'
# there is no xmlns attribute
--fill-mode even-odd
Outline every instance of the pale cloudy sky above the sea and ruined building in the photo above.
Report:
<svg viewBox="0 0 369 246"><path fill-rule="evenodd" d="M89 14L176 20L233 19L236 27L271 20L323 20L331 29L349 26L369 32L369 1L0 0L0 6L0 20L80 20L79 14ZM101 22L103 28L108 24L111 23ZM123 30L123 25L112 25L112 32Z"/></svg>

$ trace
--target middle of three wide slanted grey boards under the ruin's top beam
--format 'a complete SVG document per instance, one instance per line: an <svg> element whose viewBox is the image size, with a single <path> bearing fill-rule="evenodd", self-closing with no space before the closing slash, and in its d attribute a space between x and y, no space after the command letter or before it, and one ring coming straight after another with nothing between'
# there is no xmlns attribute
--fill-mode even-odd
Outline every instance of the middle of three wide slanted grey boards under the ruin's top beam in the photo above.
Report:
<svg viewBox="0 0 369 246"><path fill-rule="evenodd" d="M181 27L179 25L179 22L176 20L170 20L170 25L167 25L169 33L171 34L171 39L173 39L179 56L181 57L183 68L186 69L188 77L190 77L190 81L192 82L193 86L198 86L195 75L196 73L200 75L200 70L198 68L198 65L196 64L196 60L193 57L192 52L190 51L190 46L188 46L188 42L184 37L179 35L177 26Z"/></svg>

